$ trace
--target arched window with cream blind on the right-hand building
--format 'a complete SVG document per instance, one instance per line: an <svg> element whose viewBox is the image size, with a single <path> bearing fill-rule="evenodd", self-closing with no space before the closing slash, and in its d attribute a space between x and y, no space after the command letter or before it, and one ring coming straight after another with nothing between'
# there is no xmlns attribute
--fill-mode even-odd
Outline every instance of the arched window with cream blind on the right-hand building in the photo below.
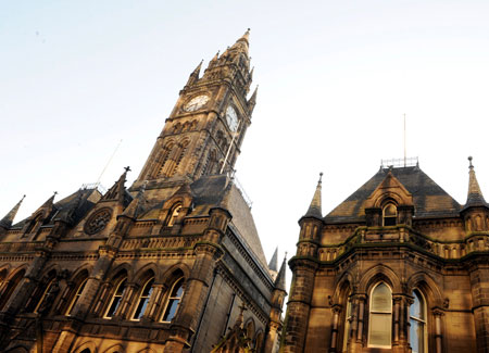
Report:
<svg viewBox="0 0 489 353"><path fill-rule="evenodd" d="M386 283L378 283L371 295L368 345L390 348L392 332L392 293Z"/></svg>

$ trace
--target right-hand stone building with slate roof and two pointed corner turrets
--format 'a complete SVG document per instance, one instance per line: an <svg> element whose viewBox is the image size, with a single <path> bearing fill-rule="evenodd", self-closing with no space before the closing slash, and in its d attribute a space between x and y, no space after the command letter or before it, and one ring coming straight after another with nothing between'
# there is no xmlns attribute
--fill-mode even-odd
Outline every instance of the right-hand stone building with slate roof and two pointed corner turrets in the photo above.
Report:
<svg viewBox="0 0 489 353"><path fill-rule="evenodd" d="M489 205L472 159L460 205L418 164L383 166L300 219L280 352L489 352Z"/></svg>

